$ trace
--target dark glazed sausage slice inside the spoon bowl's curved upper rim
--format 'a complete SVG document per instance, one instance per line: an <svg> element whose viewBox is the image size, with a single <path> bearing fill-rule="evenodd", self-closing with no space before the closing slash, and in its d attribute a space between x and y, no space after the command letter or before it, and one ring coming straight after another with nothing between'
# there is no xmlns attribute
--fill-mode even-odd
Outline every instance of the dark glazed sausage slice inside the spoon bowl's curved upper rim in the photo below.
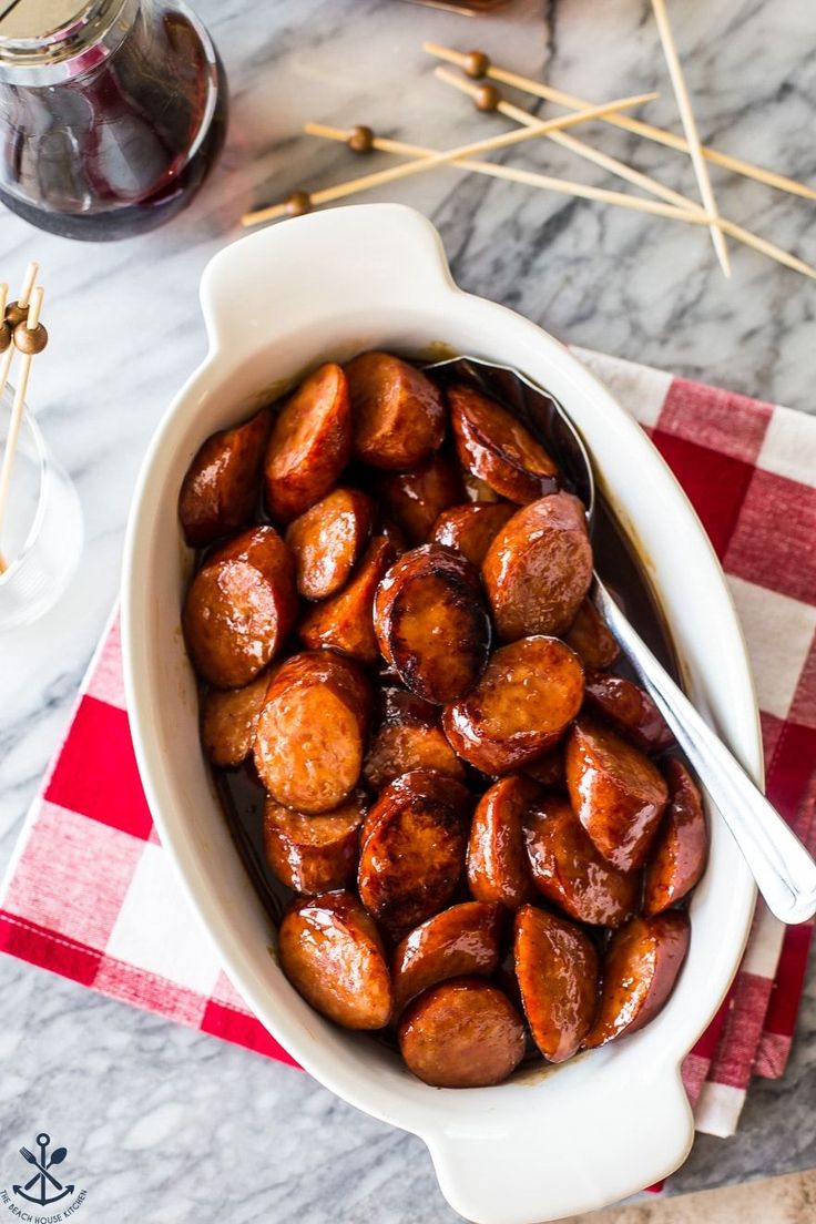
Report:
<svg viewBox="0 0 816 1224"><path fill-rule="evenodd" d="M521 421L466 383L447 395L462 468L521 506L555 492L558 469Z"/></svg>

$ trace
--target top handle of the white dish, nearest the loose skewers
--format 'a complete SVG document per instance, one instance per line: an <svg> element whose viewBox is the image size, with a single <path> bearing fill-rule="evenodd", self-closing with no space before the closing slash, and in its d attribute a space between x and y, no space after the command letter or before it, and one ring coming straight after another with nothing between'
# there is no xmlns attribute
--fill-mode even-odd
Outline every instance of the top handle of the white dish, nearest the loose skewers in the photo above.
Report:
<svg viewBox="0 0 816 1224"><path fill-rule="evenodd" d="M455 288L442 239L414 208L357 204L269 225L225 247L204 269L210 355L251 354L270 333L294 335L324 312L336 313L338 301L346 316L377 311L394 300L395 286L409 308Z"/></svg>

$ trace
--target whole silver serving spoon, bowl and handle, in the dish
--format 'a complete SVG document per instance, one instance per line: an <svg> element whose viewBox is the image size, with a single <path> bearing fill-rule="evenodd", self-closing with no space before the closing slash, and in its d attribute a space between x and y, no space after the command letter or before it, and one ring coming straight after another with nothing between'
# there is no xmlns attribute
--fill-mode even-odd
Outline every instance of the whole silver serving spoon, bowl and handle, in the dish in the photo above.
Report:
<svg viewBox="0 0 816 1224"><path fill-rule="evenodd" d="M480 387L530 425L547 442L586 506L592 526L596 507L592 464L577 430L552 395L516 370L480 357L453 357L426 368L438 371L444 378ZM812 918L816 913L814 859L655 657L597 572L591 596L730 829L768 909L784 923Z"/></svg>

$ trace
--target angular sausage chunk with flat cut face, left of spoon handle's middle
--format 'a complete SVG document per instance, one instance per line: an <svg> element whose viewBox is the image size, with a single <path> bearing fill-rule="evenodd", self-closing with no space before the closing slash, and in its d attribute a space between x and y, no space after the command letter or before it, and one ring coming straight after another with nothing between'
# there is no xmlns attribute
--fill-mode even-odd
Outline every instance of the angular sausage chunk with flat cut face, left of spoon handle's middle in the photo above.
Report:
<svg viewBox="0 0 816 1224"><path fill-rule="evenodd" d="M566 741L566 787L603 857L621 871L642 867L668 799L650 759L608 727L581 718Z"/></svg>

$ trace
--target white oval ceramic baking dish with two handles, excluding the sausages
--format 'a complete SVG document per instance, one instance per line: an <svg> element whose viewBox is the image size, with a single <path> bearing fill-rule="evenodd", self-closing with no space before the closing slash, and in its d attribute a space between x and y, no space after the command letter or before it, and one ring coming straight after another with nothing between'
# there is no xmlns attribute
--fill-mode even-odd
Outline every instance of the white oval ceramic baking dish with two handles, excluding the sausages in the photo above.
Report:
<svg viewBox="0 0 816 1224"><path fill-rule="evenodd" d="M366 348L448 344L515 366L573 415L661 592L689 690L752 776L762 750L750 667L725 581L685 494L634 420L557 340L453 283L442 242L412 209L368 204L259 231L202 280L204 362L174 398L138 480L125 548L127 705L148 803L223 965L273 1036L327 1087L420 1135L451 1206L477 1224L531 1224L629 1195L683 1162L692 1118L680 1062L739 963L755 892L721 818L692 905L677 990L640 1033L555 1071L451 1092L414 1080L367 1037L340 1033L270 956L272 923L229 841L201 758L179 608L190 556L175 523L201 441L308 365Z"/></svg>

